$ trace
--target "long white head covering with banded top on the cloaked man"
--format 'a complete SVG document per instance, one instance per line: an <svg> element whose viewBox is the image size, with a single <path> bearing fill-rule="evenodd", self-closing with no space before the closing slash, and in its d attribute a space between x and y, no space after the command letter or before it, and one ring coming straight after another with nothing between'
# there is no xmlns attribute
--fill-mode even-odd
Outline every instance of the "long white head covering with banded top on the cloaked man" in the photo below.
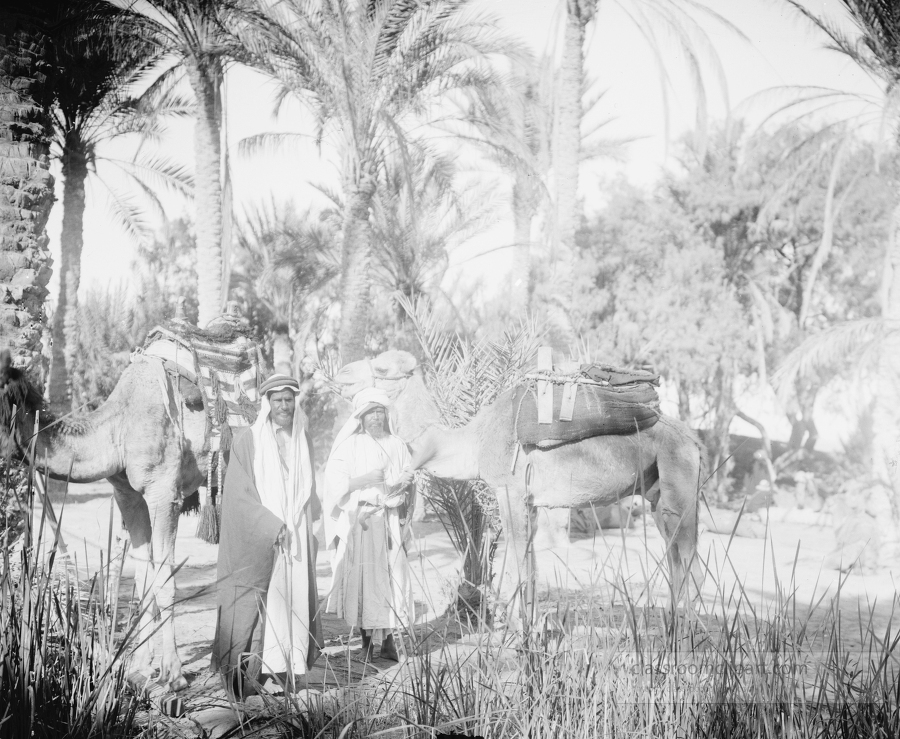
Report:
<svg viewBox="0 0 900 739"><path fill-rule="evenodd" d="M251 427L253 475L260 502L288 524L289 528L294 528L300 525L303 509L312 493L314 473L306 438L307 418L299 404L294 406L294 422L288 441L293 464L287 481L281 473L281 457L275 439L275 424L270 418L272 406L269 403L269 394L277 390L291 390L295 399L300 393L299 383L287 375L274 375L260 387L262 402L259 415ZM296 541L297 537L293 537L293 540Z"/></svg>

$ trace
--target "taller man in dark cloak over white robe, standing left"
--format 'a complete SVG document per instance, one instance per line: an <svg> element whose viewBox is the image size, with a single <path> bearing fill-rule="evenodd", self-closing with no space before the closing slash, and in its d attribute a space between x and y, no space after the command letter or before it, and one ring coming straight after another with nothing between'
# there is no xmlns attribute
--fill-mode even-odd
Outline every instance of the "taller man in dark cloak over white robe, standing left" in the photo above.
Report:
<svg viewBox="0 0 900 739"><path fill-rule="evenodd" d="M322 643L312 534L321 511L299 393L287 375L263 383L225 475L212 667L238 700L256 692L261 671L293 687Z"/></svg>

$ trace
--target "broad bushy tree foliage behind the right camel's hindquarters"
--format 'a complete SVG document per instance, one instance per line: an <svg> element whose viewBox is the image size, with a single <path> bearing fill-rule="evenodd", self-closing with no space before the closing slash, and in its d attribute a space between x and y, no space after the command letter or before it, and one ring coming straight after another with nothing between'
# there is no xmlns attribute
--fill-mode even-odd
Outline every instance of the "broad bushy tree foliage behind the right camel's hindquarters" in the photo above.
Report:
<svg viewBox="0 0 900 739"><path fill-rule="evenodd" d="M875 171L871 145L811 133L687 139L680 172L650 194L613 183L579 235L580 332L609 361L654 364L681 415L712 430L713 467L726 472L731 420L747 415L736 383L764 386L809 332L877 310L893 164ZM798 383L788 406L813 444L816 387Z"/></svg>

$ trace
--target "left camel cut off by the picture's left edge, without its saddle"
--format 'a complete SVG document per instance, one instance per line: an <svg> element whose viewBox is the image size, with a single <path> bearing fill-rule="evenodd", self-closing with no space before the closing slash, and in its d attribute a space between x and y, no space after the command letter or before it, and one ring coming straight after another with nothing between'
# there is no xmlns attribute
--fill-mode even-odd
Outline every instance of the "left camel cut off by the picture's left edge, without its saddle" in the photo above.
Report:
<svg viewBox="0 0 900 739"><path fill-rule="evenodd" d="M43 398L0 352L0 452L26 455L50 477L72 482L107 479L131 539L136 582L162 619L160 683L187 686L175 644L173 577L175 534L184 497L205 484L210 459L202 404L188 405L158 360L138 357L97 410L54 420ZM16 408L15 423L12 409ZM36 411L40 428L35 434ZM14 433L9 434L13 428ZM4 458L9 458L5 456ZM149 677L153 609L141 611L133 669Z"/></svg>

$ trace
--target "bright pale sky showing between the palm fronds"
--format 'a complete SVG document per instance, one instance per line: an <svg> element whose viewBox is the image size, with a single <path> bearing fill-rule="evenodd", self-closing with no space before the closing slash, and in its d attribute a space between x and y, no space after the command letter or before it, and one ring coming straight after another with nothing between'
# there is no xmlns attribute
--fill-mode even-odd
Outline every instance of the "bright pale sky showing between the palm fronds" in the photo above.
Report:
<svg viewBox="0 0 900 739"><path fill-rule="evenodd" d="M695 97L683 73L679 49L665 44L660 57L671 76L669 125L665 123L667 116L654 57L628 15L628 9L640 2L646 4L647 0L601 0L599 15L588 32L587 70L606 91L599 114L612 119L608 135L636 139L627 149L626 161L601 161L585 167L580 195L589 213L600 207L605 188L619 174L636 184L650 186L672 165L673 141L695 122ZM782 0L706 0L706 4L745 37L709 16L694 14L712 40L727 86L726 97L714 76L708 80L712 119L737 114L756 125L768 108L766 104L751 105L748 99L784 85L823 85L877 94L872 81L851 63L824 50L821 35ZM805 4L819 14L843 16L839 0L807 0ZM504 31L522 39L536 53L558 49L558 0L475 0L474 7L495 15ZM300 211L315 207L322 203L322 196L313 185L333 182L334 168L328 161L328 152L319 152L308 140L266 155L240 153L240 140L255 133L303 130L299 107L289 107L278 120L273 118L271 89L260 75L246 70L234 71L228 81L227 135L237 218L245 209L272 199L292 201ZM771 103L768 105L771 107ZM163 150L173 159L191 162L192 126L188 122L172 125ZM61 187L58 194L61 197ZM176 199L166 200L168 216L178 215L184 208ZM58 201L49 226L55 260L61 218ZM466 282L488 274L494 279L502 275L509 268L510 250L497 247L511 241L511 222L500 219L489 232L454 251L447 279ZM478 256L482 252L487 255ZM88 191L85 220L82 291L117 283L127 286L134 258L133 241L111 222L102 190L92 187ZM51 294L55 294L56 284L54 275Z"/></svg>

